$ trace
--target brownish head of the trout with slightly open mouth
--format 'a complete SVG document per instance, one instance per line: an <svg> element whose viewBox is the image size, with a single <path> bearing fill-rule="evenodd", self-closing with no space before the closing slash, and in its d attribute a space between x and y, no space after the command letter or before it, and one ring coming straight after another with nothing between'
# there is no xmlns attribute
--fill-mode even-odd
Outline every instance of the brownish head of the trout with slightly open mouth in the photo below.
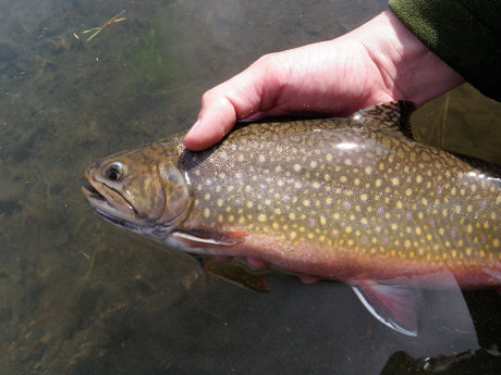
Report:
<svg viewBox="0 0 501 375"><path fill-rule="evenodd" d="M160 141L98 161L82 190L105 220L162 241L192 203L179 150L176 140Z"/></svg>

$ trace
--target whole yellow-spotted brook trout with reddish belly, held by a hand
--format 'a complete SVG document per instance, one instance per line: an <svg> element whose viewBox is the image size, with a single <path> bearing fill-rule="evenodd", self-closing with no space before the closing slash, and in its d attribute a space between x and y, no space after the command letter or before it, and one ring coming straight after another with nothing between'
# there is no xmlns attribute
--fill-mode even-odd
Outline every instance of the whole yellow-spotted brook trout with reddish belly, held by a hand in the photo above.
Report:
<svg viewBox="0 0 501 375"><path fill-rule="evenodd" d="M416 336L420 288L501 285L501 168L417 142L413 109L237 123L198 152L182 133L94 163L82 189L170 248L346 283Z"/></svg>

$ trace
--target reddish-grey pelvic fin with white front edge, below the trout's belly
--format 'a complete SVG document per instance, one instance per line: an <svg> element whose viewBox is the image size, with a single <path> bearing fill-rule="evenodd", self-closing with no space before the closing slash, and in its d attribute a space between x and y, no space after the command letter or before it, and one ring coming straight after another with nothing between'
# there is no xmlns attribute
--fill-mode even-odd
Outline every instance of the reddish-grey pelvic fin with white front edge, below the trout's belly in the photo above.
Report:
<svg viewBox="0 0 501 375"><path fill-rule="evenodd" d="M401 334L417 336L416 300L419 289L376 282L359 283L352 288L379 322Z"/></svg>

